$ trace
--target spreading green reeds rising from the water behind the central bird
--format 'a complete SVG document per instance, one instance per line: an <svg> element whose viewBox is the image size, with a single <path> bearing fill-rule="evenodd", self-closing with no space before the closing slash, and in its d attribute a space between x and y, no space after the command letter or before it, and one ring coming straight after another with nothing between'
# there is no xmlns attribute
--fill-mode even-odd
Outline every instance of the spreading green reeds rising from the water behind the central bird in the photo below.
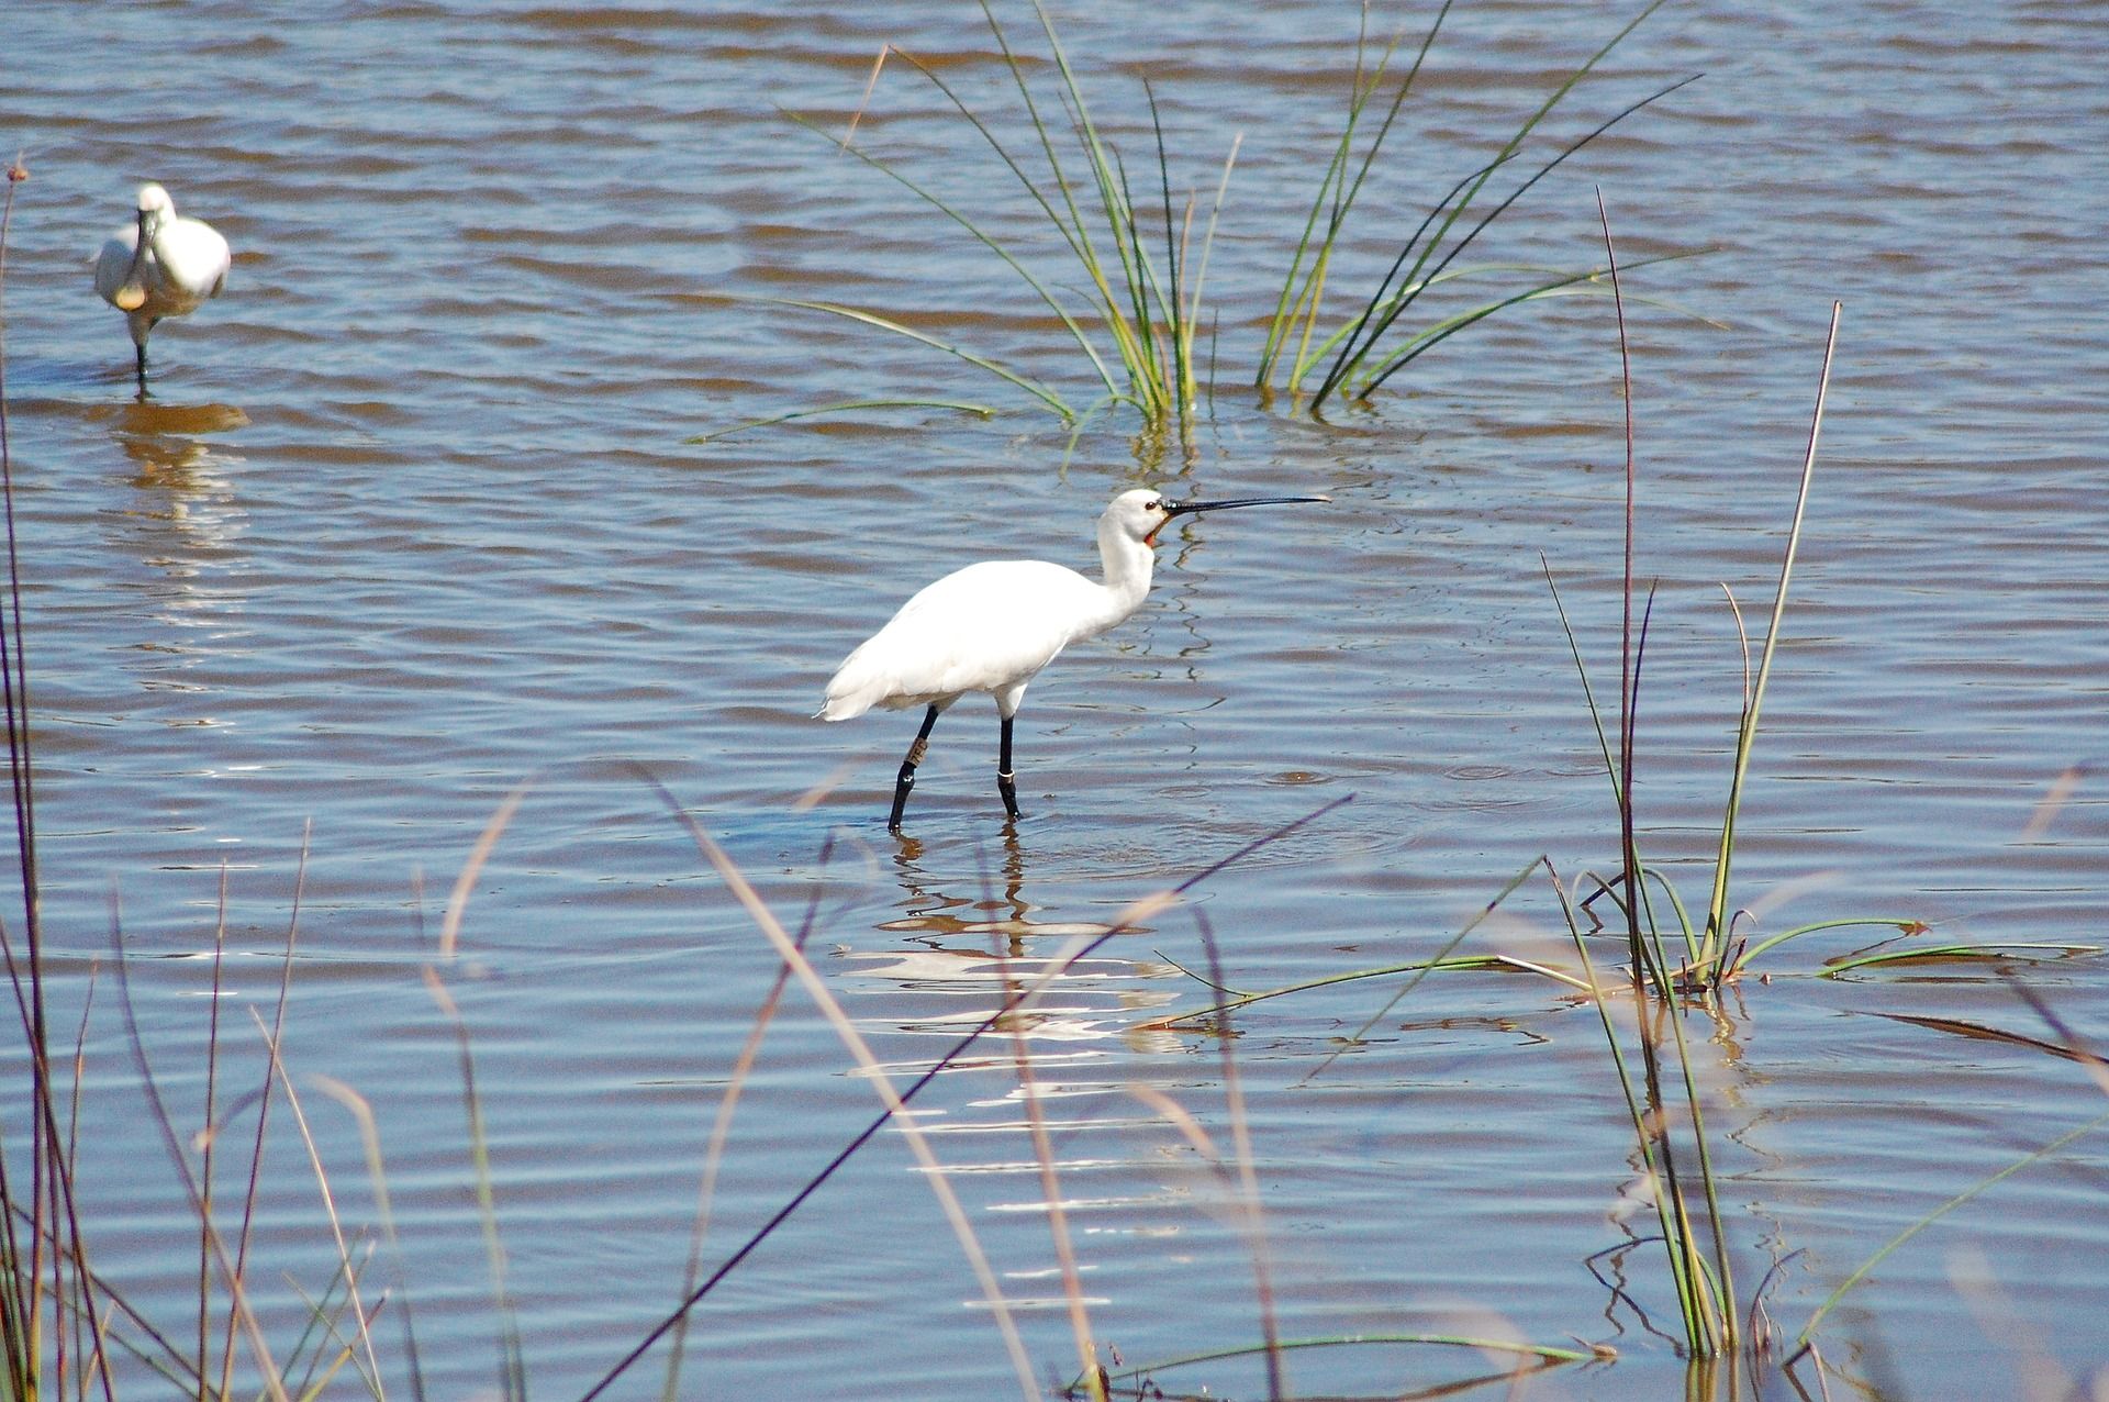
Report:
<svg viewBox="0 0 2109 1402"><path fill-rule="evenodd" d="M1375 287L1348 299L1348 306L1354 308L1348 312L1331 306L1329 283L1337 276L1346 242L1356 234L1352 217L1356 202L1407 108L1407 99L1413 95L1413 82L1428 61L1453 0L1445 0L1436 11L1402 74L1396 70L1402 63L1405 34L1394 36L1384 46L1373 46L1365 30L1354 48L1348 112L1339 137L1320 167L1310 213L1286 257L1272 314L1265 316L1263 344L1251 384L1263 396L1286 392L1295 403L1316 413L1329 401L1367 398L1417 356L1506 308L1546 297L1603 293L1603 266L1561 270L1518 264L1459 264L1457 259L1537 181L1590 141L1696 80L1681 78L1628 103L1588 133L1567 139L1552 156L1537 160L1527 175L1518 173L1521 167L1529 164L1525 150L1542 122L1664 2L1647 4L1567 74L1544 103L1489 152L1485 164L1462 175L1453 173L1453 183L1398 247ZM989 213L947 200L930 181L911 173L905 160L860 145L854 122L850 131L833 135L808 118L793 114L793 120L837 141L850 156L898 181L1002 259L1025 285L1031 299L1054 316L1063 335L1076 344L1092 379L1097 379L1097 398L1080 403L1044 379L1006 367L995 356L939 339L898 316L814 299L787 299L785 306L841 316L951 354L976 371L1023 390L1038 407L1069 424L1122 405L1133 409L1149 430L1175 426L1183 430L1219 386L1221 314L1208 306L1204 291L1208 257L1225 215L1244 137L1242 133L1232 137L1211 196L1202 198L1196 192L1179 198L1173 194L1173 158L1166 148L1158 95L1147 80L1143 82L1147 152L1130 167L1130 158L1122 154L1111 129L1095 116L1046 6L1031 0L1046 59L1033 59L1012 42L989 0L981 0L981 8L1017 97L1012 118L1025 133L1023 139L1010 137L1006 141L1004 116L974 108L945 74L901 48L888 48L879 55L873 84L888 57L898 57L930 82L1029 200L1040 226L1054 236L1061 249L1057 259L1067 255L1065 270L1044 268L1029 249L1002 238ZM1050 70L1054 78L1036 86L1038 70ZM1067 291L1071 276L1082 278L1086 293L1082 306ZM1432 289L1468 280L1508 280L1510 287L1491 299L1468 301L1430 320L1409 320L1409 314L1415 314L1421 297ZM778 424L812 413L901 405L981 415L993 411L987 405L949 398L863 398L751 420L738 428ZM734 430L700 434L692 443L725 432Z"/></svg>

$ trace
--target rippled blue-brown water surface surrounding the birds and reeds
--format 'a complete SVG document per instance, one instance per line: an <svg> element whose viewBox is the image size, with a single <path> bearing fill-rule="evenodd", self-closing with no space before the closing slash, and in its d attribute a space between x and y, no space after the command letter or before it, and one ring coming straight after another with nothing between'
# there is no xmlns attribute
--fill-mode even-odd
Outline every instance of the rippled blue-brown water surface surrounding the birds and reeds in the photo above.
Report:
<svg viewBox="0 0 2109 1402"><path fill-rule="evenodd" d="M1000 13L1050 82L1031 13ZM1333 270L1339 314L1632 13L1451 13ZM641 774L785 923L810 921L820 976L901 1082L1080 930L1352 795L1063 978L1025 1027L1029 1082L1021 1044L993 1039L917 1098L1040 1379L1069 1377L1076 1345L1029 1103L1101 1345L1147 1362L1259 1339L1253 1248L1208 1162L1232 1143L1221 1041L1149 1027L1206 1001L1181 972L1206 968L1202 921L1223 980L1270 989L1426 957L1540 854L1571 881L1615 864L1540 563L1599 696L1615 694L1611 304L1502 312L1369 405L1259 403L1261 323L1339 129L1356 8L1054 17L1137 198L1156 181L1152 84L1196 240L1238 143L1202 293L1215 392L1187 445L1124 407L1071 432L941 350L770 301L896 316L1092 405L1088 363L1004 261L785 116L839 133L894 44L1023 141L972 4L327 4L297 21L249 0L8 4L0 145L32 173L4 291L42 913L59 1027L99 968L82 1105L97 1265L171 1332L194 1330L194 1219L116 1014L112 909L188 1134L211 1008L221 1109L262 1073L249 1010L270 1016L299 890L285 1058L350 1233L382 1219L356 1122L316 1077L378 1124L401 1235L369 1273L369 1297L390 1288L382 1377L407 1396L407 1316L424 1387L470 1396L496 1385L506 1307L456 1025L422 970L479 833L523 786L443 974L529 1391L565 1398L679 1299L713 1115L776 972ZM1377 6L1369 23L1411 48L1428 19ZM1761 639L1845 304L1742 812L1736 900L1757 934L1894 915L1940 942L2101 938L2105 63L2109 17L2063 0L1672 2L1531 152L1704 78L1462 259L1586 268L1601 190L1634 264L1637 569L1658 586L1639 841L1696 907L1742 694L1723 586ZM886 65L858 141L1076 297L1044 217L913 67ZM228 293L156 331L148 398L86 270L141 179L234 245ZM1685 251L1706 255L1639 266ZM692 441L875 398L998 413L860 409ZM1145 483L1333 504L1166 531L1143 611L1027 700L1027 818L1000 822L995 723L974 698L939 727L909 837L890 839L913 717L812 721L835 662L968 559L1086 567L1105 500ZM213 1004L211 966L183 955L211 949L221 909L232 995ZM2018 974L2109 1039L2098 959L1818 976L1871 938L1782 945L1767 982L1687 1023L1738 1286L1763 1284L1788 1337L1896 1231L2109 1109L2060 1056L1953 1033L2054 1041ZM1575 963L1542 877L1464 951ZM1529 974L1443 974L1348 1041L1396 989L1238 1014L1280 1332L1580 1339L1618 1362L1521 1391L1685 1387L1660 1254L1615 1250L1649 1214L1626 1200L1637 1160L1594 1010ZM257 1294L291 1347L299 1307L276 1271L321 1290L333 1250L283 1105ZM732 1119L704 1265L877 1107L793 987ZM253 1111L234 1124L243 1138ZM2082 1136L1987 1189L1847 1294L1820 1330L1833 1396L2056 1396L2096 1377L2105 1145ZM1014 1394L928 1179L894 1130L854 1155L696 1311L679 1391ZM614 1396L660 1396L664 1360ZM1289 1385L1396 1396L1504 1366L1343 1347L1293 1356ZM1160 1381L1265 1391L1253 1360ZM333 1387L356 1391L350 1372Z"/></svg>

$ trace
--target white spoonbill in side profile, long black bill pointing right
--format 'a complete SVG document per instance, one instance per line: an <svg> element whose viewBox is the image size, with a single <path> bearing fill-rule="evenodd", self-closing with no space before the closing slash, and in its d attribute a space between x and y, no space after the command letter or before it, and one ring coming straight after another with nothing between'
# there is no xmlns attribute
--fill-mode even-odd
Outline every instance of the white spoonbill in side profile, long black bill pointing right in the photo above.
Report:
<svg viewBox="0 0 2109 1402"><path fill-rule="evenodd" d="M995 791L1004 795L1004 810L1019 818L1010 721L1019 715L1025 687L1063 647L1099 637L1141 607L1156 563L1152 546L1164 523L1202 510L1327 500L1173 502L1162 491L1122 491L1099 517L1103 584L1046 561L983 561L955 569L903 603L884 628L841 660L818 715L823 721L848 721L873 706L928 706L894 782L886 831L898 833L936 717L968 692L987 692L1004 723Z"/></svg>

